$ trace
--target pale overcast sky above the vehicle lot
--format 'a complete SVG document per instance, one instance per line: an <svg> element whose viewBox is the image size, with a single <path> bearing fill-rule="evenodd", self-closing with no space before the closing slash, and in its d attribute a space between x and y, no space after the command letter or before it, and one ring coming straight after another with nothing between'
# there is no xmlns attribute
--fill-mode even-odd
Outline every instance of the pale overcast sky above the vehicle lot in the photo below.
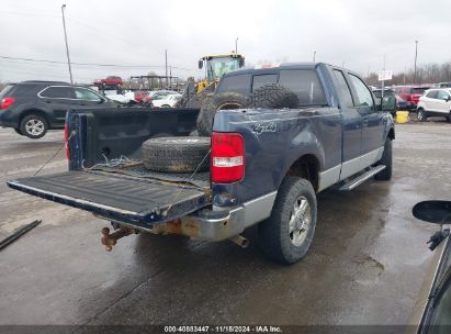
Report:
<svg viewBox="0 0 451 334"><path fill-rule="evenodd" d="M204 54L229 53L238 37L246 63L316 60L356 70L395 73L418 64L451 60L450 1L153 1L2 0L0 81L69 80L67 64L11 60L19 57L66 62L61 4L75 80L119 75L165 74L200 77ZM132 67L136 66L136 67ZM145 67L138 67L145 66Z"/></svg>

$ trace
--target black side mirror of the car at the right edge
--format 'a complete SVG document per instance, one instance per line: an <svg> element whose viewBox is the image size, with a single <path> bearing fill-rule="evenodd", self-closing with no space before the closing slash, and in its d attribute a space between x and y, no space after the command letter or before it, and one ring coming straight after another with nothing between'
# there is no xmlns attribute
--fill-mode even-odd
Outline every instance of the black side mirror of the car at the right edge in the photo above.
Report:
<svg viewBox="0 0 451 334"><path fill-rule="evenodd" d="M411 213L416 219L433 224L451 223L451 201L424 201L416 203Z"/></svg>

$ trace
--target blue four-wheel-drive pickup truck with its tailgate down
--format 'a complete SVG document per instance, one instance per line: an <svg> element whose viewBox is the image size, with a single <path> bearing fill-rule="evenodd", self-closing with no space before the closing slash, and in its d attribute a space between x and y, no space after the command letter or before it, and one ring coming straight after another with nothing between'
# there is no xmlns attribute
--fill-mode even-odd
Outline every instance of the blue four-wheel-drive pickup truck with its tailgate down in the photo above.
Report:
<svg viewBox="0 0 451 334"><path fill-rule="evenodd" d="M187 137L199 110L84 109L67 115L69 171L8 185L112 222L114 233L102 230L108 250L137 232L246 246L241 233L259 224L262 252L296 263L313 240L318 192L391 179L394 122L357 74L323 63L233 71L216 93L247 96L271 82L293 91L297 108L218 110L204 171L155 171L140 162L144 142Z"/></svg>

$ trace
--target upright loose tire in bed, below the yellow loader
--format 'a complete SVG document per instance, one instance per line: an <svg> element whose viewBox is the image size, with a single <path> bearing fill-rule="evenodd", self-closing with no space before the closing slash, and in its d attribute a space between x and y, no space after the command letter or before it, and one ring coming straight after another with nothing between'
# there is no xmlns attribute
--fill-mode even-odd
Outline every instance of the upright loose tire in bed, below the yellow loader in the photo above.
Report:
<svg viewBox="0 0 451 334"><path fill-rule="evenodd" d="M198 116L198 132L201 136L211 136L213 120L216 111L221 109L240 109L246 108L248 99L237 92L219 92L210 97L202 104Z"/></svg>

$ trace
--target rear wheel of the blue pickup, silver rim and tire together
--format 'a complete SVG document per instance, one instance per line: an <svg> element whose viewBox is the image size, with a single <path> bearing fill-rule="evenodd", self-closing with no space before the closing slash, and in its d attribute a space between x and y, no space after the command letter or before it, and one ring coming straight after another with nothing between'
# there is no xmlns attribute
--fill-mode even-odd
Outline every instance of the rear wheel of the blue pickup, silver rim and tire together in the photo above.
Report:
<svg viewBox="0 0 451 334"><path fill-rule="evenodd" d="M316 213L316 196L312 183L298 177L285 177L271 216L259 225L260 249L277 261L297 263L312 244Z"/></svg>

